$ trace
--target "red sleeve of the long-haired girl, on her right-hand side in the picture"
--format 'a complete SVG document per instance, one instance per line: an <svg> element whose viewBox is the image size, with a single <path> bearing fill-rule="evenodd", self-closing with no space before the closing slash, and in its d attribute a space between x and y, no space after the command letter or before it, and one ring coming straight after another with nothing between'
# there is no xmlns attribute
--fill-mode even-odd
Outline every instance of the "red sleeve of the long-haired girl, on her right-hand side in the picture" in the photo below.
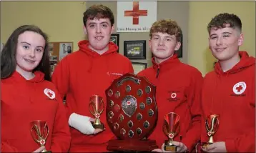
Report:
<svg viewBox="0 0 256 153"><path fill-rule="evenodd" d="M59 98L60 99L60 98ZM59 100L59 107L54 120L54 131L51 137L52 152L68 152L71 142L68 118L65 114L64 104Z"/></svg>

